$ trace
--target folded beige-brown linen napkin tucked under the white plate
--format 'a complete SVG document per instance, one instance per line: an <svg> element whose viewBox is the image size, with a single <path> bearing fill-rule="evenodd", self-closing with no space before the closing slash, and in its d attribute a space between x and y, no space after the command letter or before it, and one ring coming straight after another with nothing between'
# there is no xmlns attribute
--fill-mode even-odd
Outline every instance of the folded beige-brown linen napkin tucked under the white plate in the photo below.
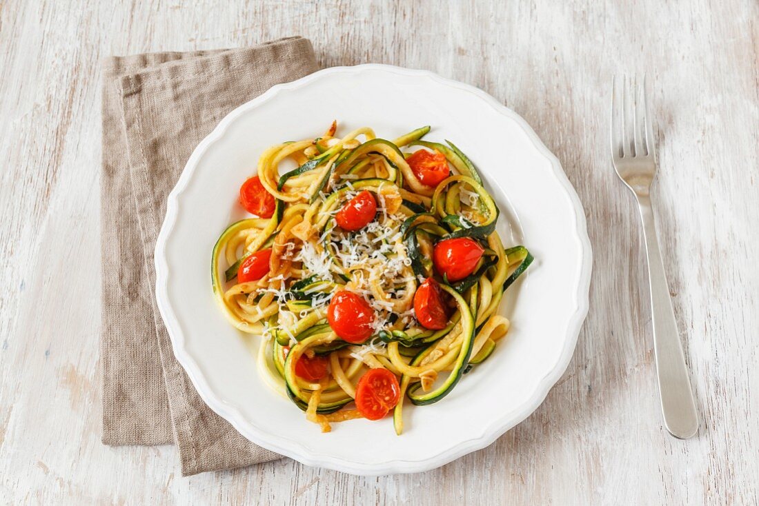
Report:
<svg viewBox="0 0 759 506"><path fill-rule="evenodd" d="M168 193L232 109L317 70L307 39L108 58L102 94L103 442L175 442L183 475L279 458L203 403L156 308L153 250Z"/></svg>

